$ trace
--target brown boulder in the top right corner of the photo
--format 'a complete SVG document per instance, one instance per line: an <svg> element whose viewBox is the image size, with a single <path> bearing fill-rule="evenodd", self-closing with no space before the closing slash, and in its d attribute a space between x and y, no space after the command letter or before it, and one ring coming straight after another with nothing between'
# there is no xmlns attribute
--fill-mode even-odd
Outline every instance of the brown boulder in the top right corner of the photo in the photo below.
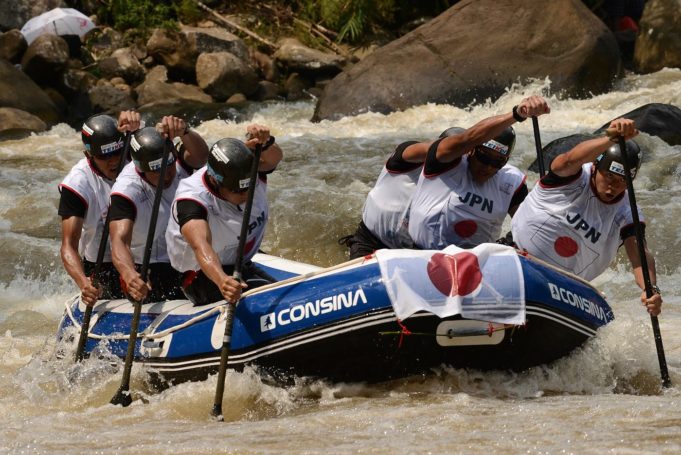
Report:
<svg viewBox="0 0 681 455"><path fill-rule="evenodd" d="M639 30L634 64L640 72L681 68L681 0L648 0Z"/></svg>

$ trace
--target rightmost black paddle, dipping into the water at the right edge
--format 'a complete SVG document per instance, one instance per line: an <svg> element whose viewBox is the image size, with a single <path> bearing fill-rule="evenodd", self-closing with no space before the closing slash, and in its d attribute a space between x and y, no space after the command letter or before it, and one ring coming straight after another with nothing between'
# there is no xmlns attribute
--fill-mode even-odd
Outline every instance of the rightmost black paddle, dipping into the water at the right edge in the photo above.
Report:
<svg viewBox="0 0 681 455"><path fill-rule="evenodd" d="M627 182L627 192L629 193L629 205L631 206L631 216L634 220L634 230L636 232L636 243L638 245L638 255L641 260L641 271L643 272L643 283L646 288L646 296L648 298L653 296L653 286L650 282L650 271L648 270L648 259L646 258L645 248L643 246L643 230L641 229L641 222L638 218L638 208L636 206L636 196L634 195L634 183L631 179L631 166L629 157L627 156L626 144L624 137L619 136L618 142L620 146L620 153L622 154L622 161L624 165L624 179ZM664 347L662 346L662 334L660 333L660 324L657 316L650 315L650 322L653 326L653 336L655 338L655 347L657 348L657 360L660 363L660 376L662 377L662 387L671 387L672 382L669 379L669 371L667 371L667 360L664 355Z"/></svg>

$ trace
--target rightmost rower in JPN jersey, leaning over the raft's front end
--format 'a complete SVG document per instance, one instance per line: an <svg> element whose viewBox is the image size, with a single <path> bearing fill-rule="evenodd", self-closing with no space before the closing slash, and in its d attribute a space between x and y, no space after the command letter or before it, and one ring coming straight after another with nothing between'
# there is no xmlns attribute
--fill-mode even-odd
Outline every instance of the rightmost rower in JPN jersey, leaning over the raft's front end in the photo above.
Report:
<svg viewBox="0 0 681 455"><path fill-rule="evenodd" d="M521 249L584 279L603 273L624 245L634 278L644 289L622 154L617 144L626 139L626 153L635 177L641 164L640 148L631 140L638 135L633 120L616 119L607 135L577 144L558 155L549 172L534 187L513 217L513 238ZM639 213L643 221L643 214ZM656 283L655 260L645 254L650 278ZM662 297L641 302L652 315L660 313Z"/></svg>

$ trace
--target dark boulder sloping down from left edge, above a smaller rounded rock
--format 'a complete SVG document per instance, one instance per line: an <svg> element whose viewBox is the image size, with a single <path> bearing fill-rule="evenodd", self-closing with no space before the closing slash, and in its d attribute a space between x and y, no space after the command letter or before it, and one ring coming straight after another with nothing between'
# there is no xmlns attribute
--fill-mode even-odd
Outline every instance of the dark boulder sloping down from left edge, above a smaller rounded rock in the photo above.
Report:
<svg viewBox="0 0 681 455"><path fill-rule="evenodd" d="M0 107L29 112L47 124L59 120L59 110L49 96L26 74L0 59Z"/></svg>

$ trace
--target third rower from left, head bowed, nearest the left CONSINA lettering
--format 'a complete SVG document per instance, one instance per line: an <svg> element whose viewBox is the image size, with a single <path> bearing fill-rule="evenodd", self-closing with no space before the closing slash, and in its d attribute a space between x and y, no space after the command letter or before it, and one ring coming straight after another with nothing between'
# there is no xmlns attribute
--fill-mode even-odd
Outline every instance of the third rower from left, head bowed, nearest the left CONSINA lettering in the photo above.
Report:
<svg viewBox="0 0 681 455"><path fill-rule="evenodd" d="M222 139L210 149L207 166L180 184L166 231L173 267L182 273L182 289L195 305L219 300L235 302L245 287L273 279L250 259L262 242L268 218L267 174L282 158L281 148L263 125L249 125L247 140ZM232 278L243 204L248 198L255 146L262 146L251 218L243 256L242 277Z"/></svg>

